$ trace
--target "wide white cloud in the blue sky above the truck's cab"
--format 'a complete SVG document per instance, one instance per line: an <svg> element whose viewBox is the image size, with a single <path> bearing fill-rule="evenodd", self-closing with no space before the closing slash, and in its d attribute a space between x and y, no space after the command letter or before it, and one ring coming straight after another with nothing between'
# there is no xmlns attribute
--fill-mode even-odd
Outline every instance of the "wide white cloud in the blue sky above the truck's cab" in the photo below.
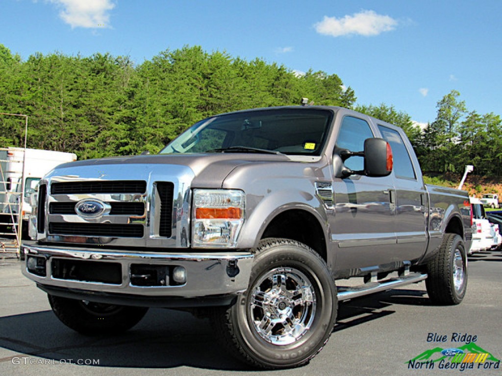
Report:
<svg viewBox="0 0 502 376"><path fill-rule="evenodd" d="M392 17L382 16L374 11L361 11L343 18L324 16L321 22L314 24L314 27L319 34L331 37L350 34L371 37L392 31L397 25L398 22Z"/></svg>

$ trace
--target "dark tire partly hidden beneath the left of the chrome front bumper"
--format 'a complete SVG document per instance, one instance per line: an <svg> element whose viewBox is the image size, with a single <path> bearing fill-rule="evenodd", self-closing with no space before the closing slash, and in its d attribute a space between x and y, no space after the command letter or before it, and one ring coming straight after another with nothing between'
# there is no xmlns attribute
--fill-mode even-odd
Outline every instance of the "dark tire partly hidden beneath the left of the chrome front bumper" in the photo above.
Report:
<svg viewBox="0 0 502 376"><path fill-rule="evenodd" d="M63 324L85 335L118 334L131 329L148 308L94 303L48 295L53 312Z"/></svg>

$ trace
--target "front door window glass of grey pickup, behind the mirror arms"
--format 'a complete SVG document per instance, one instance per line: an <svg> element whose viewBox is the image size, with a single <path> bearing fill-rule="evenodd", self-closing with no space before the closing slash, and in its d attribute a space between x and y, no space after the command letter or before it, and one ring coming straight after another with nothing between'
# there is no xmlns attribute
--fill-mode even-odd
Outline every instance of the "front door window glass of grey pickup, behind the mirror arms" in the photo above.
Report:
<svg viewBox="0 0 502 376"><path fill-rule="evenodd" d="M364 150L364 140L371 137L373 137L373 132L366 121L345 116L340 126L340 132L338 132L336 146L350 151L362 151ZM352 170L363 170L364 159L353 156L345 161L345 165Z"/></svg>

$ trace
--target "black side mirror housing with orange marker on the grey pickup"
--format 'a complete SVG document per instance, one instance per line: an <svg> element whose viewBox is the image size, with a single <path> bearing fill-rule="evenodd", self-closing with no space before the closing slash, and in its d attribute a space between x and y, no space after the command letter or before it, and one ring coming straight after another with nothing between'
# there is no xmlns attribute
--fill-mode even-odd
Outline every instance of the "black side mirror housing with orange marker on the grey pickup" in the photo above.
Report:
<svg viewBox="0 0 502 376"><path fill-rule="evenodd" d="M392 148L383 138L364 140L364 174L366 176L388 176L394 164Z"/></svg>

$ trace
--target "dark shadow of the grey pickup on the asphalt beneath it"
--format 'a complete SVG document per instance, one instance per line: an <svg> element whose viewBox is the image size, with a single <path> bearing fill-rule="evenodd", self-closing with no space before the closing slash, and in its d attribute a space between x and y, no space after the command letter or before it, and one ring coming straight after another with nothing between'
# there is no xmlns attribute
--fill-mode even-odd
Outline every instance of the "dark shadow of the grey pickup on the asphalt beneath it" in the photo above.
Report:
<svg viewBox="0 0 502 376"><path fill-rule="evenodd" d="M391 290L343 302L334 331L390 315L395 312L389 309L394 303L423 304L424 294ZM0 347L15 352L0 358L0 363L30 357L51 363L71 359L78 364L80 360L101 367L255 370L226 354L215 335L209 319L169 309L151 309L137 326L121 335L96 337L68 329L52 311L40 311L0 317Z"/></svg>

